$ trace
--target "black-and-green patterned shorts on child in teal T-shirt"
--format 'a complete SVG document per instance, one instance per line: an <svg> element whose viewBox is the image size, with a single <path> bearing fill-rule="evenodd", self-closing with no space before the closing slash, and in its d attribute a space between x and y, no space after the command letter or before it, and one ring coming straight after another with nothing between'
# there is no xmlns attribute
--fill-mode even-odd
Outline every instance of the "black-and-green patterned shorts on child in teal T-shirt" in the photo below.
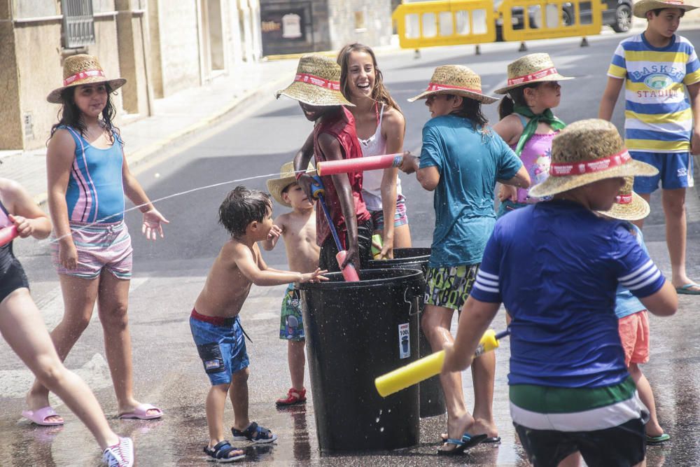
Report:
<svg viewBox="0 0 700 467"><path fill-rule="evenodd" d="M426 305L461 309L479 272L479 264L454 267L428 267Z"/></svg>

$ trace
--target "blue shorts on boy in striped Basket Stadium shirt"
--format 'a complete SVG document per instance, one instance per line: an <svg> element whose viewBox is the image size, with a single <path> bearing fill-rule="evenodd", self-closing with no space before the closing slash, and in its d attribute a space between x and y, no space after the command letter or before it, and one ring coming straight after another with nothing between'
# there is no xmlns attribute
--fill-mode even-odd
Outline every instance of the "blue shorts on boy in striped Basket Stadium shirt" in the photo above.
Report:
<svg viewBox="0 0 700 467"><path fill-rule="evenodd" d="M637 193L653 193L659 188L675 190L693 186L693 156L690 153L641 153L629 151L634 160L646 162L659 169L654 176L634 177Z"/></svg>

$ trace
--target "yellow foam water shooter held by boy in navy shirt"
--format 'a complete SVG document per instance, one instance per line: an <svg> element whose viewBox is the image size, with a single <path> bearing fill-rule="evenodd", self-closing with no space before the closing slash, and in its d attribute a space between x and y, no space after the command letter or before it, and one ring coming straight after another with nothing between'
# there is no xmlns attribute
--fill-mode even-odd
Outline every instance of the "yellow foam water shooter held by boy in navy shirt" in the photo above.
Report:
<svg viewBox="0 0 700 467"><path fill-rule="evenodd" d="M479 346L474 356L479 356L487 351L498 348L498 340L510 334L505 330L496 334L493 329L486 330L486 333L479 341ZM397 368L386 375L381 375L374 379L374 386L377 387L379 396L391 396L393 393L402 391L407 387L418 384L421 381L439 375L444 364L444 350L430 354L408 365Z"/></svg>

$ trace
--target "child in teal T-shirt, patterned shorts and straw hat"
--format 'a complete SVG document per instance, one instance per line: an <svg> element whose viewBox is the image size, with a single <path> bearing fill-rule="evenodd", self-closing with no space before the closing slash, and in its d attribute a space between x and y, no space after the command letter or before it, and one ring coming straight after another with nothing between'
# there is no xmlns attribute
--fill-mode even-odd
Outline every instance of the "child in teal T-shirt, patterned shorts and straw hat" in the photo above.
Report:
<svg viewBox="0 0 700 467"><path fill-rule="evenodd" d="M428 89L408 99L426 99L433 117L423 127L419 158L405 155L401 170L416 172L426 190L435 190L435 232L426 274L426 299L421 326L433 351L452 342L452 315L470 293L496 213L496 181L527 187L522 162L498 134L486 126L481 104L496 99L483 95L481 78L467 67L445 65L433 72ZM447 442L438 454L458 454L475 444L472 435L486 433L499 442L493 421L492 353L477 359L474 416L467 412L459 373L440 376L447 405ZM472 433L469 435L468 433ZM466 440L466 441L463 441Z"/></svg>

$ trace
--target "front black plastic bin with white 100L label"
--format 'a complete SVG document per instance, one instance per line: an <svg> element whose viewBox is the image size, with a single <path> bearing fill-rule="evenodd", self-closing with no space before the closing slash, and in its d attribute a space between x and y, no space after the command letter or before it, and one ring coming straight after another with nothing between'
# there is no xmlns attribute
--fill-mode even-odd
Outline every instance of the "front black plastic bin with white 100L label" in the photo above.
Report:
<svg viewBox="0 0 700 467"><path fill-rule="evenodd" d="M322 452L398 449L418 444L418 386L382 398L374 378L418 359L416 270L339 272L301 284L311 391Z"/></svg>

